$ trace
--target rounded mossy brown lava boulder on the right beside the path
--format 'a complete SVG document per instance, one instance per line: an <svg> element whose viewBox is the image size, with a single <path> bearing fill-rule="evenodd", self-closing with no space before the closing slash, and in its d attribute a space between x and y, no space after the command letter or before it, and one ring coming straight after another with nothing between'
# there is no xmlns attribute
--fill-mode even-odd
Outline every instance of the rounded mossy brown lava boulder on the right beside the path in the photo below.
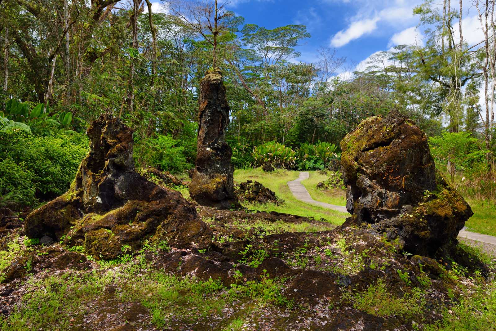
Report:
<svg viewBox="0 0 496 331"><path fill-rule="evenodd" d="M426 135L398 111L364 120L341 142L347 225L372 225L404 250L434 256L473 215L435 168Z"/></svg>

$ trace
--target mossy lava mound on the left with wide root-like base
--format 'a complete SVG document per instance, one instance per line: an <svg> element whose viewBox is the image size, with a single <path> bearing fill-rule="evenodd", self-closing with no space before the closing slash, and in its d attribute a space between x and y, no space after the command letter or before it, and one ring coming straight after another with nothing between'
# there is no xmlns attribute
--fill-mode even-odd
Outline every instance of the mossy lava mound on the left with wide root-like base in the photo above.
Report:
<svg viewBox="0 0 496 331"><path fill-rule="evenodd" d="M194 207L135 172L132 132L110 115L94 121L87 131L90 152L69 191L28 215L26 235L83 246L98 259L138 250L145 241L208 247L212 231Z"/></svg>

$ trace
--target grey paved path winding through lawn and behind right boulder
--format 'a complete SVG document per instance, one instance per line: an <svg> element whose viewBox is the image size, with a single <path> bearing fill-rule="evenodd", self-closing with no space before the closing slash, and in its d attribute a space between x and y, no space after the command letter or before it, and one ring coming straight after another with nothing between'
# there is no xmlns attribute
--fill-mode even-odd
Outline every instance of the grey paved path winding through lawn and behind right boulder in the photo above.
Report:
<svg viewBox="0 0 496 331"><path fill-rule="evenodd" d="M345 213L348 212L346 210L345 206L338 206L335 204L325 203L325 202L316 201L316 200L312 199L310 197L310 193L307 191L305 186L303 186L303 184L301 183L302 181L304 181L308 178L309 178L308 171L300 171L300 177L298 177L298 179L295 179L294 181L288 182L288 187L296 199L301 200L303 202L315 204L315 205L318 205L318 206L321 206L324 208L334 209L334 210L345 212ZM466 230L466 227L464 227L460 231L460 233L458 233L458 237L476 240L476 241L480 241L480 242L486 243L486 244L496 245L496 237L489 236L487 234L470 232L470 231Z"/></svg>

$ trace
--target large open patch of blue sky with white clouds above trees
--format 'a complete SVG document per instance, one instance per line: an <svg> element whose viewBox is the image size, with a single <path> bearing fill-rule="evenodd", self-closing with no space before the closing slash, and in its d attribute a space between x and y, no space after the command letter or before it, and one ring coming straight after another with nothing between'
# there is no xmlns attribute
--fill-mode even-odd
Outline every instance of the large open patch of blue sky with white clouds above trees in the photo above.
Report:
<svg viewBox="0 0 496 331"><path fill-rule="evenodd" d="M389 0L237 0L230 7L246 22L266 28L305 24L311 34L299 60L314 62L319 46L337 50L358 64L393 44L415 42L413 7L420 1ZM410 29L410 30L408 30ZM403 31L407 32L403 32ZM403 35L399 35L403 33ZM420 40L420 38L419 38Z"/></svg>

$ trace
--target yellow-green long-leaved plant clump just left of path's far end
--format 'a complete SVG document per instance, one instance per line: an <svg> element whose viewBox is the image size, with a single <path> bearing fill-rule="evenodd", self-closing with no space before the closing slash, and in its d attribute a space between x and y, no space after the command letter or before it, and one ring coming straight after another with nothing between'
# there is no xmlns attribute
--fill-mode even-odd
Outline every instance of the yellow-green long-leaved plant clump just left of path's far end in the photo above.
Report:
<svg viewBox="0 0 496 331"><path fill-rule="evenodd" d="M293 169L296 164L296 153L290 147L275 141L269 141L255 147L252 156L255 166L268 163L282 168Z"/></svg>

